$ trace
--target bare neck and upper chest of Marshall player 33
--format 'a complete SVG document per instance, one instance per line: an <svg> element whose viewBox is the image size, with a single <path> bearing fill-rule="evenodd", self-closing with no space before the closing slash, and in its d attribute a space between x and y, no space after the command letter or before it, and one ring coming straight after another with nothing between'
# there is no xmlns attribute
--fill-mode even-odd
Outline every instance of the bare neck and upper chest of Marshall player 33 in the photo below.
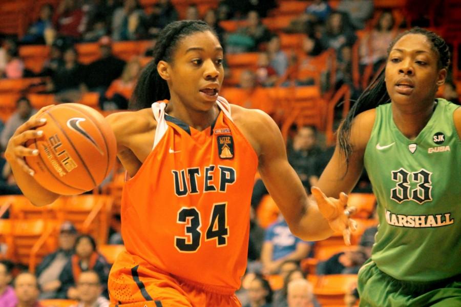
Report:
<svg viewBox="0 0 461 307"><path fill-rule="evenodd" d="M409 139L414 139L426 127L435 110L435 101L422 105L401 106L392 104L392 117L395 126Z"/></svg>

